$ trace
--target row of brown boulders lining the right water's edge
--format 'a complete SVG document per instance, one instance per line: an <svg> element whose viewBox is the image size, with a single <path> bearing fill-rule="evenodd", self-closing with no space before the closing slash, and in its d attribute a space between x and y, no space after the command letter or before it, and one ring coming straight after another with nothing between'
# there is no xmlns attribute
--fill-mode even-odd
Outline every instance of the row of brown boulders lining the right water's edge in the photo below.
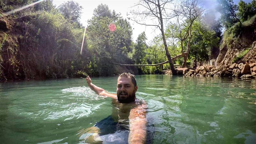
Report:
<svg viewBox="0 0 256 144"><path fill-rule="evenodd" d="M176 68L178 75L184 76L208 76L208 77L239 77L256 78L256 63L233 63L232 65L212 66L204 65L197 69ZM171 75L170 70L164 71L166 75Z"/></svg>

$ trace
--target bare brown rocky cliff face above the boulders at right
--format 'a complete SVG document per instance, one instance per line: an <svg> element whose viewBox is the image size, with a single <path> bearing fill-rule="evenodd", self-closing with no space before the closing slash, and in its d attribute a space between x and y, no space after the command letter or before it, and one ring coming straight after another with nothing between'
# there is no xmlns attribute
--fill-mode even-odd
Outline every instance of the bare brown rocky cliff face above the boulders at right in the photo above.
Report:
<svg viewBox="0 0 256 144"><path fill-rule="evenodd" d="M236 37L232 37L235 30L239 30ZM216 59L217 65L231 65L234 58L241 52L248 51L241 60L235 61L236 63L254 63L256 62L256 19L251 24L243 23L240 28L229 29L221 42L219 56ZM224 34L225 35L225 34ZM228 36L227 36L228 35ZM228 38L227 38L228 37ZM232 37L232 38L231 38ZM233 61L234 62L234 61Z"/></svg>

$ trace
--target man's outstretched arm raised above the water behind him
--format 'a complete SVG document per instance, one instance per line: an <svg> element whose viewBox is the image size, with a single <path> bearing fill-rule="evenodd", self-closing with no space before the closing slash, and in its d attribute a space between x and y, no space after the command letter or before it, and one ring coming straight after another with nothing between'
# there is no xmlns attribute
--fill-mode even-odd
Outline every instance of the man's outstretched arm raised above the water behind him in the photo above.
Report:
<svg viewBox="0 0 256 144"><path fill-rule="evenodd" d="M88 86L91 88L91 90L96 92L98 95L107 96L107 97L117 99L116 94L109 93L109 92L105 91L103 88L100 88L100 87L92 84L92 80L91 80L90 76L86 77L86 82L87 82Z"/></svg>

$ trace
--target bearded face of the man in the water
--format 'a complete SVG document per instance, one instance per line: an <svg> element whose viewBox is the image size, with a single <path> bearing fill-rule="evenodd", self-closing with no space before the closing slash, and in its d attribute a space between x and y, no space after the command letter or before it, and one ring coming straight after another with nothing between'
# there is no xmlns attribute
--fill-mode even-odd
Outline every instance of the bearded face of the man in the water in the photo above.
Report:
<svg viewBox="0 0 256 144"><path fill-rule="evenodd" d="M121 77L117 81L116 95L117 100L122 103L129 103L134 101L135 92L137 92L138 87L134 87L132 84L132 79L129 77Z"/></svg>

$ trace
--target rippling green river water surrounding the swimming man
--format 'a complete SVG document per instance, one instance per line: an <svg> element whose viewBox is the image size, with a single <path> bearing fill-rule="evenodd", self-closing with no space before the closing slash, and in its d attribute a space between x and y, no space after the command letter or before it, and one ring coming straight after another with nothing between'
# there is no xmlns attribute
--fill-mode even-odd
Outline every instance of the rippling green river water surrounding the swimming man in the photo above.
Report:
<svg viewBox="0 0 256 144"><path fill-rule="evenodd" d="M115 93L116 79L92 83ZM136 97L148 105L148 143L256 142L255 80L136 79ZM111 115L111 101L91 91L84 78L0 83L0 143L83 143L81 131Z"/></svg>

